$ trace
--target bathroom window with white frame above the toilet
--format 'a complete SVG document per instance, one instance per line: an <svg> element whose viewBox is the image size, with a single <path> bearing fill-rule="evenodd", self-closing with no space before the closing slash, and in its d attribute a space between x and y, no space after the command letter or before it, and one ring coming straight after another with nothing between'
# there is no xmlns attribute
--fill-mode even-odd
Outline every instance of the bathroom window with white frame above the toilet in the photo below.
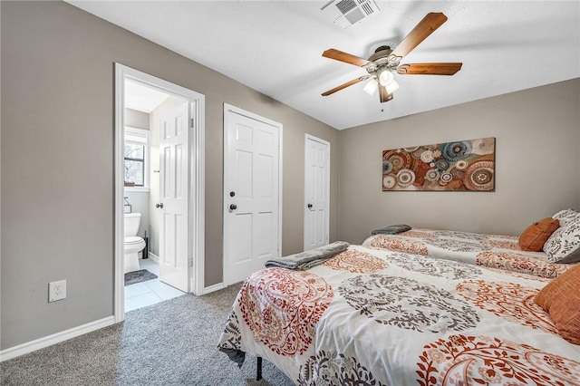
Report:
<svg viewBox="0 0 580 386"><path fill-rule="evenodd" d="M149 130L125 128L125 187L149 188Z"/></svg>

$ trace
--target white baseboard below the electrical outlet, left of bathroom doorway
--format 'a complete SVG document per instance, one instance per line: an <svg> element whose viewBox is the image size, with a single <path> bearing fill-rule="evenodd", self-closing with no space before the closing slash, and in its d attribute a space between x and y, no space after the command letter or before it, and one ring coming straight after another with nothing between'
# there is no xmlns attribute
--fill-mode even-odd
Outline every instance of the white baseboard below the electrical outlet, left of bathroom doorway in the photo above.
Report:
<svg viewBox="0 0 580 386"><path fill-rule="evenodd" d="M53 333L52 335L45 336L35 341L19 344L14 347L10 347L3 351L0 351L0 362L13 359L17 356L24 355L28 352L35 352L36 350L43 349L44 347L52 346L56 343L61 343L68 341L69 339L80 336L84 333L91 333L92 331L99 330L103 327L107 327L115 323L114 316L109 316L92 323L86 323L78 327L73 327L70 330L62 331L60 333Z"/></svg>

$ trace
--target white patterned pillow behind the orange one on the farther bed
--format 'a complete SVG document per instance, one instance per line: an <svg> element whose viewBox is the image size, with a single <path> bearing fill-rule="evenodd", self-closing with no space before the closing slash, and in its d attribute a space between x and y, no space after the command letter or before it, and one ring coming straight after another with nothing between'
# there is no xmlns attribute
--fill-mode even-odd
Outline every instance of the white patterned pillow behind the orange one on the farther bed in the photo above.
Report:
<svg viewBox="0 0 580 386"><path fill-rule="evenodd" d="M558 220L561 224L562 220L559 218ZM557 228L546 240L544 252L550 263L580 261L580 216L565 220L565 226Z"/></svg>

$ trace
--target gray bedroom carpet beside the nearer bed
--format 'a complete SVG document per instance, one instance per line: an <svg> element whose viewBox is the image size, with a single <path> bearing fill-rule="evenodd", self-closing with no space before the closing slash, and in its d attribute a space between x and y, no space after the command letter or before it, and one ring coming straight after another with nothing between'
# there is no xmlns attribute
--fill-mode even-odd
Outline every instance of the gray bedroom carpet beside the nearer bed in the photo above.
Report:
<svg viewBox="0 0 580 386"><path fill-rule="evenodd" d="M184 294L126 314L123 323L0 363L2 385L253 385L294 383L256 358L241 369L217 349L239 285Z"/></svg>

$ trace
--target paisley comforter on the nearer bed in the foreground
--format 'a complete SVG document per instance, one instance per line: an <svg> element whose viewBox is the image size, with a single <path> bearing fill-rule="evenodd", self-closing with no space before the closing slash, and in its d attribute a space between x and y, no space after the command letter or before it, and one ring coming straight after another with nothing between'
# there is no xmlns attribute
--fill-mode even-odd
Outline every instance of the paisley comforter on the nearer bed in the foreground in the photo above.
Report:
<svg viewBox="0 0 580 386"><path fill-rule="evenodd" d="M298 385L580 384L580 346L533 301L549 279L363 246L247 278L218 347Z"/></svg>

